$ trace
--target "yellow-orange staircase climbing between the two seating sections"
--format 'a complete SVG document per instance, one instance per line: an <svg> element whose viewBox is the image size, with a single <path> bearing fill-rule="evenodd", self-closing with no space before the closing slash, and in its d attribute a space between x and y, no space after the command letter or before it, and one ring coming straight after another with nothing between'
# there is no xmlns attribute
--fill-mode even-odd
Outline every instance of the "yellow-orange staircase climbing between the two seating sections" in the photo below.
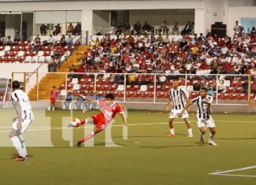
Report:
<svg viewBox="0 0 256 185"><path fill-rule="evenodd" d="M57 72L70 72L71 65L75 64L77 62L77 58L81 57L81 52L85 52L87 49L88 46L78 46L77 50L74 50L73 54L71 54L70 57L67 57L66 61L64 61L60 68L57 69ZM46 76L44 76L43 79L37 84L39 85L38 100L49 100L52 87L59 87L63 82L65 82L65 80L65 75L63 74L46 74ZM28 93L31 101L37 100L37 85Z"/></svg>

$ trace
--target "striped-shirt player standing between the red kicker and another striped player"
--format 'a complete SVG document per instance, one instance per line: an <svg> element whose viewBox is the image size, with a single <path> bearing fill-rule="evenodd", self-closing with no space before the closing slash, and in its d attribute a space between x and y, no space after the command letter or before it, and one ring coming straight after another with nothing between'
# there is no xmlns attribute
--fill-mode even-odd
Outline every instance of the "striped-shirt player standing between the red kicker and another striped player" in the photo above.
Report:
<svg viewBox="0 0 256 185"><path fill-rule="evenodd" d="M188 101L186 97L186 93L183 91L182 88L179 87L178 80L172 81L172 88L169 91L170 99L168 101L168 104L166 105L166 109L170 108L170 105L172 104L172 109L169 117L169 128L170 128L170 134L168 134L168 137L174 137L175 136L175 130L173 126L173 121L175 118L179 117L179 113L182 112L184 106L186 105L186 102ZM188 131L188 137L192 138L192 128L190 125L190 121L188 120L188 113L184 111L183 113L183 120L186 123L187 131Z"/></svg>

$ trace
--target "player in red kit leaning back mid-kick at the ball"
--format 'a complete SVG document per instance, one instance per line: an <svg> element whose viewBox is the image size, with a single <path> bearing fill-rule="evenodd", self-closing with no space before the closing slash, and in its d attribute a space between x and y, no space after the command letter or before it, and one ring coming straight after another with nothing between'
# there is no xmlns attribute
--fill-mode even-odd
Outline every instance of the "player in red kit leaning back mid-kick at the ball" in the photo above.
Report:
<svg viewBox="0 0 256 185"><path fill-rule="evenodd" d="M85 98L88 101L94 101L93 98L87 98L85 96L81 97ZM81 139L77 142L77 146L81 147L82 142L86 142L88 139L91 139L94 135L98 134L100 131L103 131L108 124L111 123L111 120L114 119L116 113L119 113L122 117L123 123L127 126L125 113L123 112L122 106L118 103L114 102L115 96L114 94L106 94L103 100L98 101L98 105L102 108L101 113L88 117L85 120L82 119L80 123L75 125L74 127L79 127L81 124L94 124L95 129L91 133L85 136L85 138ZM72 125L73 126L73 125Z"/></svg>

